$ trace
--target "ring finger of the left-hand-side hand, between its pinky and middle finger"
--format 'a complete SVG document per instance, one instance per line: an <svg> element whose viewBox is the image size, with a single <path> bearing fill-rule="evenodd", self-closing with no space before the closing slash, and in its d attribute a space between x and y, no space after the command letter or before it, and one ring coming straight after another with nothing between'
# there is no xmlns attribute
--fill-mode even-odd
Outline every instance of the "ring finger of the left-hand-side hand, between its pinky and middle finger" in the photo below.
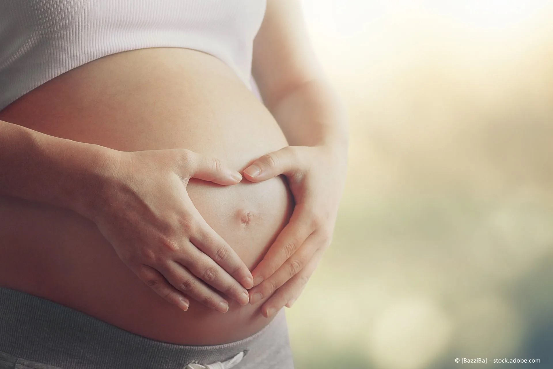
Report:
<svg viewBox="0 0 553 369"><path fill-rule="evenodd" d="M208 308L221 311L221 313L228 311L227 300L213 292L213 290L208 288L207 285L193 276L190 271L187 271L179 263L169 262L160 266L159 271L176 290L185 293Z"/></svg>

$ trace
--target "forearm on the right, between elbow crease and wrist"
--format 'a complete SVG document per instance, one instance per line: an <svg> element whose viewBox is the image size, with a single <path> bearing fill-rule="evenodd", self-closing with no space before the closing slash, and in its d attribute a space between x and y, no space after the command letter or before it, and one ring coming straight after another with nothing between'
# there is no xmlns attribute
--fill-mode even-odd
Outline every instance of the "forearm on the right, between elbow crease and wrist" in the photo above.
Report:
<svg viewBox="0 0 553 369"><path fill-rule="evenodd" d="M295 86L268 108L290 145L330 145L347 150L346 112L324 80Z"/></svg>

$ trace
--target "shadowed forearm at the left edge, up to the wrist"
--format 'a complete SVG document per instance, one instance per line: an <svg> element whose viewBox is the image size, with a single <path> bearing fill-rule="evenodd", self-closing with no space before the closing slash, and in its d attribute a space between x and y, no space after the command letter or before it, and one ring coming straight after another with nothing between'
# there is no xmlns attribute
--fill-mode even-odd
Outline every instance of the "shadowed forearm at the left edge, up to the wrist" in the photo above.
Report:
<svg viewBox="0 0 553 369"><path fill-rule="evenodd" d="M0 121L0 194L88 211L116 150Z"/></svg>

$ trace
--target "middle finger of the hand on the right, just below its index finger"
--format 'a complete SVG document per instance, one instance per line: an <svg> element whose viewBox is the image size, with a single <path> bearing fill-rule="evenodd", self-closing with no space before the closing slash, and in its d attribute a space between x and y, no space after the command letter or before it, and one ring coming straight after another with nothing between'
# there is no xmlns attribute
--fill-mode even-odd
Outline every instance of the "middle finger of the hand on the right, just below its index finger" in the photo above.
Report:
<svg viewBox="0 0 553 369"><path fill-rule="evenodd" d="M317 233L312 233L286 262L262 283L249 291L251 304L255 304L264 297L272 295L284 283L298 274L314 256L314 253L323 245L324 240ZM286 302L285 302L286 303Z"/></svg>

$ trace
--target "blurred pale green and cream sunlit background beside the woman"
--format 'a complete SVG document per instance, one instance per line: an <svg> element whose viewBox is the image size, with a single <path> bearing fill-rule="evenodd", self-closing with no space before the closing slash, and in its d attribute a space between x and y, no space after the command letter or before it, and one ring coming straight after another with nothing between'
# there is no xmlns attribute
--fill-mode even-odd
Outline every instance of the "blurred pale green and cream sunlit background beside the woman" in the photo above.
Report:
<svg viewBox="0 0 553 369"><path fill-rule="evenodd" d="M302 4L351 143L296 367L553 368L552 2Z"/></svg>

